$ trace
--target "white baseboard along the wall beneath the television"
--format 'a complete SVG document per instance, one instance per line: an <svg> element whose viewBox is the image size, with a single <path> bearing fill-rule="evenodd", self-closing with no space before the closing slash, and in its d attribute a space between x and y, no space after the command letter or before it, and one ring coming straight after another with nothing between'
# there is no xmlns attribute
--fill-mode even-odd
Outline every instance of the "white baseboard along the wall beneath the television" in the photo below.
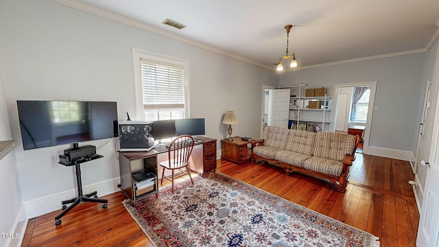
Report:
<svg viewBox="0 0 439 247"><path fill-rule="evenodd" d="M119 180L119 178L112 178L92 185L85 185L82 187L82 191L84 191L84 194L97 191L98 196L106 196L118 191L117 185L119 184ZM76 188L69 189L68 191L62 191L60 193L54 193L49 196L43 196L41 198L23 202L26 219L29 220L33 217L61 209L61 201L75 198L78 196L77 191L78 189Z"/></svg>

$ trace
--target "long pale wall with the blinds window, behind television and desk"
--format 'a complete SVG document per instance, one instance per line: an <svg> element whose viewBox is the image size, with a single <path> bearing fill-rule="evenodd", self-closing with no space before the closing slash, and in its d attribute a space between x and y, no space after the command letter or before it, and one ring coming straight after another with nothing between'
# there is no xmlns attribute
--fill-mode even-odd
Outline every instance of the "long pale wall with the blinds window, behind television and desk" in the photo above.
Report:
<svg viewBox="0 0 439 247"><path fill-rule="evenodd" d="M226 137L226 110L235 110L239 119L234 134L258 137L262 85L278 81L274 71L51 1L3 1L0 32L12 137L20 141L17 99L108 100L117 102L119 120L126 111L134 113L132 48L189 60L191 117L206 118L206 136L215 139ZM115 191L115 141L97 150L104 158L82 165L84 192ZM99 147L104 141L86 144ZM60 209L60 200L75 195L73 168L58 164L66 148L16 148L28 217Z"/></svg>

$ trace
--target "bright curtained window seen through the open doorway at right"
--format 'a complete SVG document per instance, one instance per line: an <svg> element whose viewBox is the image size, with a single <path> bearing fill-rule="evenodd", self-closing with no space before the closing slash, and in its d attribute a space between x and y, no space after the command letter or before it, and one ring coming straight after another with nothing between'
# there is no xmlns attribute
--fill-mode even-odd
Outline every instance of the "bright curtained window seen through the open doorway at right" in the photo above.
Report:
<svg viewBox="0 0 439 247"><path fill-rule="evenodd" d="M354 88L351 121L366 123L369 108L369 96L369 86Z"/></svg>

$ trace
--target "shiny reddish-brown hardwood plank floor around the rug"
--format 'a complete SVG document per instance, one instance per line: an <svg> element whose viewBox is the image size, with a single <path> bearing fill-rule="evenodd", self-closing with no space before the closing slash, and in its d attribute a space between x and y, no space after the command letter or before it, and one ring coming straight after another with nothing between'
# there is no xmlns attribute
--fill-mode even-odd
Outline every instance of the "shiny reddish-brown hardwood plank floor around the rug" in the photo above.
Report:
<svg viewBox="0 0 439 247"><path fill-rule="evenodd" d="M419 214L407 161L357 154L346 193L265 163L219 160L217 171L372 233L381 246L416 246ZM152 246L121 204L122 193L104 198L108 209L84 202L62 217L60 226L54 224L60 211L29 220L22 246Z"/></svg>

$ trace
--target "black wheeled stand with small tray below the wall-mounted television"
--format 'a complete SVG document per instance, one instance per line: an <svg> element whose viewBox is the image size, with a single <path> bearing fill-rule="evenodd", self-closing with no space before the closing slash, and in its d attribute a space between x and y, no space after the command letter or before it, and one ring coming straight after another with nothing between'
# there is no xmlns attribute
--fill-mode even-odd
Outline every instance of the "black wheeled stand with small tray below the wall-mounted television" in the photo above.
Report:
<svg viewBox="0 0 439 247"><path fill-rule="evenodd" d="M69 213L69 211L71 211L71 209L76 207L81 202L104 203L102 205L102 208L106 209L108 207L108 200L97 198L97 191L93 191L93 192L85 194L85 195L82 193L82 180L81 180L81 167L80 167L81 163L84 163L87 161L92 161L96 158L102 158L102 157L104 157L104 156L99 155L99 154L92 154L90 156L78 158L78 160L73 162L73 164L66 165L66 166L75 165L76 182L78 185L78 197L72 198L70 200L63 200L62 201L62 212L59 213L58 215L56 215L56 217L55 217L55 225L56 226L59 226L61 224L62 216L64 216L66 213ZM62 164L62 165L64 165L64 164ZM93 196L93 198L92 198L92 196ZM71 204L71 205L69 207L67 207L67 204Z"/></svg>

